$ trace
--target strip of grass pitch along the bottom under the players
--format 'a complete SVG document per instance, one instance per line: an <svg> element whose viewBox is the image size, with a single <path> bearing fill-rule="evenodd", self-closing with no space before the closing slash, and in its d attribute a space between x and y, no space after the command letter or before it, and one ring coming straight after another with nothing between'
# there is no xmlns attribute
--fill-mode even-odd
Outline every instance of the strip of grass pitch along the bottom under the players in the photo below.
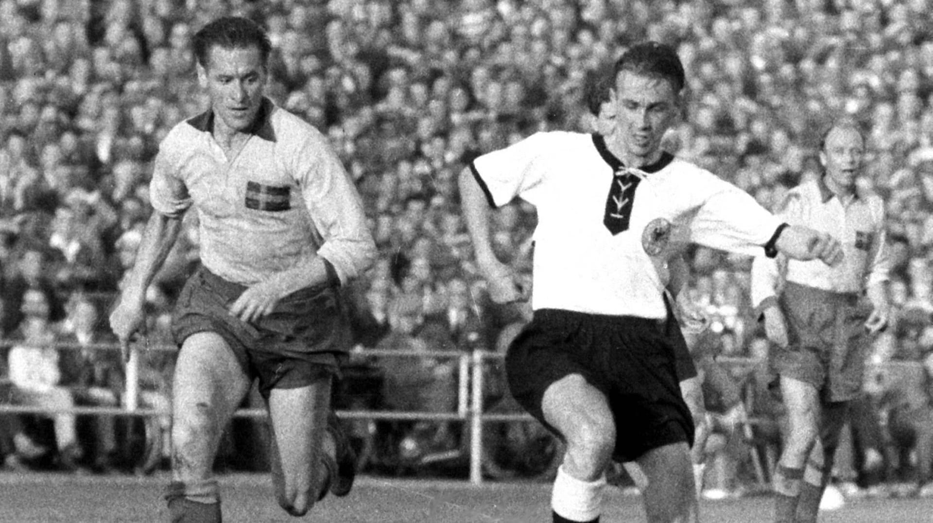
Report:
<svg viewBox="0 0 933 523"><path fill-rule="evenodd" d="M157 523L167 521L161 499L167 476L0 474L3 523ZM345 498L328 497L304 517L287 516L272 497L265 474L221 476L225 523L547 523L545 484L397 480L363 476ZM644 521L640 500L612 488L604 523ZM709 523L767 523L771 498L703 502ZM866 499L825 513L822 523L920 523L933 521L933 500Z"/></svg>

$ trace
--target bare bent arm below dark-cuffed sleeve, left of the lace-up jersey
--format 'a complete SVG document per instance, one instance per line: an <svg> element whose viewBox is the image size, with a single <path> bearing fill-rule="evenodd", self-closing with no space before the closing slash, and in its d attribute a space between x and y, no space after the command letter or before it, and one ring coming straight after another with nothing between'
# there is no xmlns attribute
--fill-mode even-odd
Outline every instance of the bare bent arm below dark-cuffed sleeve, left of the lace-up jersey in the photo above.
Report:
<svg viewBox="0 0 933 523"><path fill-rule="evenodd" d="M527 292L522 289L512 270L495 257L489 236L489 202L469 167L460 173L458 183L466 230L473 242L477 267L489 285L490 298L497 304L526 300Z"/></svg>

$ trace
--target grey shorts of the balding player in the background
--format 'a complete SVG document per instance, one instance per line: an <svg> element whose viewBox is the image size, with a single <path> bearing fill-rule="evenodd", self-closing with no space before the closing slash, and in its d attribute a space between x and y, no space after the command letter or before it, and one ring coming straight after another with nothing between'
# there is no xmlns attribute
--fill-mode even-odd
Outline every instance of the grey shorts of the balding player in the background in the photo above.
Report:
<svg viewBox="0 0 933 523"><path fill-rule="evenodd" d="M861 393L870 337L871 306L857 294L842 294L787 282L778 304L787 319L787 348L772 348L771 367L819 390L824 402L844 402Z"/></svg>

